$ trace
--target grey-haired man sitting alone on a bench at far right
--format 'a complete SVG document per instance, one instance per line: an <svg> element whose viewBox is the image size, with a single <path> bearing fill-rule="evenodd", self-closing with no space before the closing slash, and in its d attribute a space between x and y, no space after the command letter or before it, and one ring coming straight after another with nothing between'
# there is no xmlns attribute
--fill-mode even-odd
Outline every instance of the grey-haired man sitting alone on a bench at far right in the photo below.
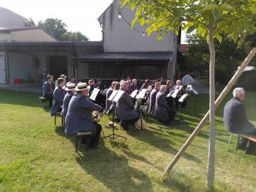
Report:
<svg viewBox="0 0 256 192"><path fill-rule="evenodd" d="M256 128L247 120L246 110L243 105L244 89L242 87L234 89L233 96L224 106L224 126L232 133L256 135ZM246 150L246 154L256 154L256 143L248 141L247 138L241 138L239 149Z"/></svg>

